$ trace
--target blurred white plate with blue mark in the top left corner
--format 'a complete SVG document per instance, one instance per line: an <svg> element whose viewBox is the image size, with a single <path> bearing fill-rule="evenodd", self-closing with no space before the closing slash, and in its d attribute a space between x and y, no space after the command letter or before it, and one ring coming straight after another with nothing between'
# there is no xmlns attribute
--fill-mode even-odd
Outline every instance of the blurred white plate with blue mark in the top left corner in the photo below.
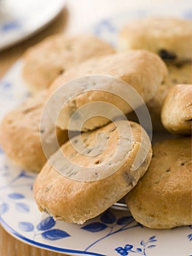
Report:
<svg viewBox="0 0 192 256"><path fill-rule="evenodd" d="M1 0L0 50L44 28L63 10L65 0Z"/></svg>

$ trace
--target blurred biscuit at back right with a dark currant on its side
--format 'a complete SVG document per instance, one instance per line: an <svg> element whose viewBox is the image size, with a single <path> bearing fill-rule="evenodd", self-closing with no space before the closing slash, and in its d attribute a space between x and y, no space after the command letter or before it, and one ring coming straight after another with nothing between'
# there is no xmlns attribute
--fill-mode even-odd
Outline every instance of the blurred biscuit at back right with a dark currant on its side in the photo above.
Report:
<svg viewBox="0 0 192 256"><path fill-rule="evenodd" d="M192 21L150 17L128 23L119 34L120 50L146 49L167 61L191 60Z"/></svg>

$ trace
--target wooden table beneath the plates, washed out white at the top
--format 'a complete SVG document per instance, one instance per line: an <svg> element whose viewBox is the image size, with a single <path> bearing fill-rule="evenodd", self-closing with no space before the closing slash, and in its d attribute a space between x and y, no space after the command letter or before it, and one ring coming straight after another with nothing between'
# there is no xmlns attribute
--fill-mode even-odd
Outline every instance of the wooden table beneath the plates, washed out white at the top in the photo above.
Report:
<svg viewBox="0 0 192 256"><path fill-rule="evenodd" d="M174 0L164 0L165 2L174 2ZM65 34L77 34L86 31L97 20L105 18L113 13L125 9L134 10L138 7L147 7L151 4L156 7L158 4L165 4L160 0L69 0L66 1L66 7L43 31L40 31L34 37L21 42L0 53L0 79L5 72L17 61L23 52L31 45L35 45L43 38L51 34L64 32ZM0 255L1 256L59 256L61 254L48 252L44 249L37 249L28 246L12 238L0 226Z"/></svg>

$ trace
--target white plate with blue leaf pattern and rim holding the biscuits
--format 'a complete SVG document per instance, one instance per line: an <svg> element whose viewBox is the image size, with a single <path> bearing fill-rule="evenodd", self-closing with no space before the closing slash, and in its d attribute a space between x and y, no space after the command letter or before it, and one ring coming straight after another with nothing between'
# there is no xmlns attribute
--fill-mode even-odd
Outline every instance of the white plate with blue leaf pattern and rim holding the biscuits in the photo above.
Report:
<svg viewBox="0 0 192 256"><path fill-rule="evenodd" d="M171 12L171 13L170 13ZM101 20L89 31L116 44L117 33L128 20L145 15L177 15L191 17L189 8L137 10ZM0 118L18 102L28 97L20 76L22 62L18 61L0 84ZM99 217L75 225L54 221L40 213L34 201L32 187L35 173L28 173L9 162L0 150L0 221L12 236L21 241L63 252L68 255L191 255L191 226L172 230L153 230L135 222L128 211L110 208Z"/></svg>

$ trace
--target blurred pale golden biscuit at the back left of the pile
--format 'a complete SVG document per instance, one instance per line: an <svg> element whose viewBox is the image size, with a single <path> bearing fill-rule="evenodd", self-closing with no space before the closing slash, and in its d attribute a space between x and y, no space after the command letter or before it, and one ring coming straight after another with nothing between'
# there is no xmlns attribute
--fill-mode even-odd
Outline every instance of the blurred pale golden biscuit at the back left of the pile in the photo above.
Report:
<svg viewBox="0 0 192 256"><path fill-rule="evenodd" d="M23 78L31 91L40 91L74 64L110 53L114 53L113 48L92 35L66 37L57 34L26 50Z"/></svg>

